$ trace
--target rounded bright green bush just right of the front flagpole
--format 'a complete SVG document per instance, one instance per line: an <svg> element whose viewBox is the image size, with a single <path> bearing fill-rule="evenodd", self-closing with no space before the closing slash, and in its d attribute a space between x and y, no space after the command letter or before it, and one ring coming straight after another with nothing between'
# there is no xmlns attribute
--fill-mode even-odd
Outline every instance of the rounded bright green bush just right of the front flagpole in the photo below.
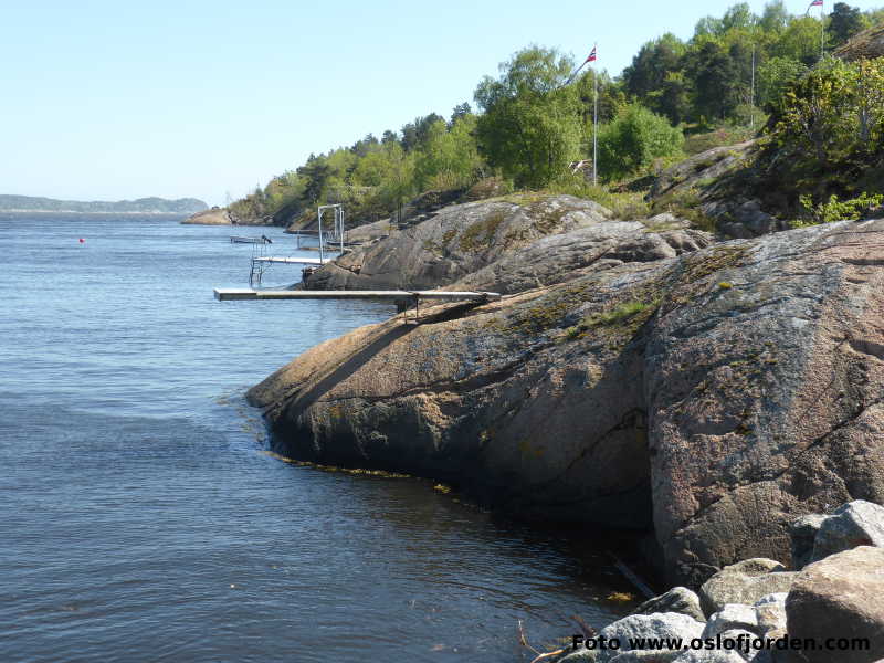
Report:
<svg viewBox="0 0 884 663"><path fill-rule="evenodd" d="M630 104L599 128L599 169L607 179L638 173L659 157L681 154L683 144L681 129L665 117Z"/></svg>

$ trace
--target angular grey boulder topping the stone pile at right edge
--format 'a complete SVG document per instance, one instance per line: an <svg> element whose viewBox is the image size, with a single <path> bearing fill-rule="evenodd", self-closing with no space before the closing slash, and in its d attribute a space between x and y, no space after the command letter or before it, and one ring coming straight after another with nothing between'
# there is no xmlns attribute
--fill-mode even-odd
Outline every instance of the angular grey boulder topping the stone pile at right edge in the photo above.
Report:
<svg viewBox="0 0 884 663"><path fill-rule="evenodd" d="M820 524L811 561L859 546L884 547L884 507L862 499L845 504Z"/></svg>

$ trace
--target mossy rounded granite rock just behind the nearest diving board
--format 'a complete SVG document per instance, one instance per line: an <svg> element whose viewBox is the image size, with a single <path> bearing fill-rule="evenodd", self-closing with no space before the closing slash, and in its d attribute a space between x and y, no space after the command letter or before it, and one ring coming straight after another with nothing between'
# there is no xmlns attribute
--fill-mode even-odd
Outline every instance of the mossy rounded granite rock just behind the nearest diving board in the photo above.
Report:
<svg viewBox="0 0 884 663"><path fill-rule="evenodd" d="M674 257L708 246L712 235L659 232L610 220L606 208L571 196L459 204L404 230L389 222L349 231L371 242L315 272L315 290L484 290L516 293L628 262ZM389 236L378 239L379 233Z"/></svg>

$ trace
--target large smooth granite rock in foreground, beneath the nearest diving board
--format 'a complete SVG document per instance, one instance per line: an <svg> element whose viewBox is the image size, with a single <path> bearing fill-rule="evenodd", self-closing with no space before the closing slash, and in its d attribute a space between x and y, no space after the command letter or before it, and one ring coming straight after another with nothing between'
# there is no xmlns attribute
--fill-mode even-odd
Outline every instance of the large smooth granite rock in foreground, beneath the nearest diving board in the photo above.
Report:
<svg viewBox="0 0 884 663"><path fill-rule="evenodd" d="M480 204L501 206L491 245L528 231ZM556 228L603 223L593 209ZM801 515L884 502L882 267L881 220L624 262L359 329L249 398L286 455L442 478L527 517L653 523L671 578L698 586L788 559Z"/></svg>

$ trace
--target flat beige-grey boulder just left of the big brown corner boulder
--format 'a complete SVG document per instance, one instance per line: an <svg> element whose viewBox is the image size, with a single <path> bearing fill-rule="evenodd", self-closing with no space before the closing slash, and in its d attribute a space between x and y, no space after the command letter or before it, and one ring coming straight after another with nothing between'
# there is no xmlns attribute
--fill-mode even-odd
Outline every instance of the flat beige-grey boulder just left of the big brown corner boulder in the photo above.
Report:
<svg viewBox="0 0 884 663"><path fill-rule="evenodd" d="M771 559L750 559L725 567L699 589L699 600L706 614L724 610L728 603L753 606L772 593L788 592L793 572Z"/></svg>

